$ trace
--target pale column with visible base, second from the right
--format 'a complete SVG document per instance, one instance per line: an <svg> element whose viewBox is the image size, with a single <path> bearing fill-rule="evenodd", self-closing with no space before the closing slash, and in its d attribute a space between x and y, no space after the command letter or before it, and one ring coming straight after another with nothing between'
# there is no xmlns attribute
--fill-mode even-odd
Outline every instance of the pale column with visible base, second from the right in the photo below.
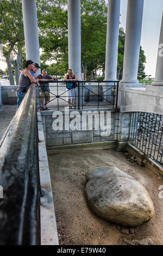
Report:
<svg viewBox="0 0 163 256"><path fill-rule="evenodd" d="M126 87L140 87L137 80L144 0L128 0L123 76Z"/></svg>

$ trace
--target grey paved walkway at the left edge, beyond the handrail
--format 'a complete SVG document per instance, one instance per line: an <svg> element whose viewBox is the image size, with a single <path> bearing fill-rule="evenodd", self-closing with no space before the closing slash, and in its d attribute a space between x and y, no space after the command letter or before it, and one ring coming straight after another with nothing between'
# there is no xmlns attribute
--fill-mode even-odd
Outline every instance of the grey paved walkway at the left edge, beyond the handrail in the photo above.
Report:
<svg viewBox="0 0 163 256"><path fill-rule="evenodd" d="M17 105L0 106L0 140L14 117Z"/></svg>

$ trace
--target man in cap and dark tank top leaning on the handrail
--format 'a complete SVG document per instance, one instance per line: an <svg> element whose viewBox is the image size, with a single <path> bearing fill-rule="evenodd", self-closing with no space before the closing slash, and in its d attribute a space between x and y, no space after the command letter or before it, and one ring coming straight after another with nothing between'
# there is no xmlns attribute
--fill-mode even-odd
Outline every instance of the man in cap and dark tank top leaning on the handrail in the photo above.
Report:
<svg viewBox="0 0 163 256"><path fill-rule="evenodd" d="M30 74L30 71L32 71L33 68L34 68L34 62L29 59L26 62L26 69L23 69L21 71L20 78L18 81L18 87L16 90L17 109L21 105L21 102L24 99L24 96L26 95L30 84L36 83L35 78ZM17 109L16 109L16 111L17 111Z"/></svg>

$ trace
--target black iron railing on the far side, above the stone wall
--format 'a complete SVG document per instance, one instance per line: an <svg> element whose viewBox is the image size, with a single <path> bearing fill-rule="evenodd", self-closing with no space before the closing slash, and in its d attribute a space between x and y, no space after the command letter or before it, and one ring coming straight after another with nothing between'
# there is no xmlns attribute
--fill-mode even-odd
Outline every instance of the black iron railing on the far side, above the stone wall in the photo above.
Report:
<svg viewBox="0 0 163 256"><path fill-rule="evenodd" d="M47 82L41 82L47 83ZM68 104L68 89L64 81L50 81L49 93L50 100L47 103L48 108L57 108L58 110ZM54 84L52 84L54 83ZM118 81L78 81L74 93L74 101L71 107L83 109L85 107L117 107L118 101ZM39 86L41 90L41 86ZM40 96L41 97L44 96ZM45 102L40 108L45 106Z"/></svg>

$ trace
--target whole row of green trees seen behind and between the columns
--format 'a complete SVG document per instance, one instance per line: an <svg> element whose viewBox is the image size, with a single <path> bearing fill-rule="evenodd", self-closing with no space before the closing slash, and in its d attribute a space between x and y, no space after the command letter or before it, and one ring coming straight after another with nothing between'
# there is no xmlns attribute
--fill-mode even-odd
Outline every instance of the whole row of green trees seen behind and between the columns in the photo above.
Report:
<svg viewBox="0 0 163 256"><path fill-rule="evenodd" d="M68 69L67 0L37 0L36 4L41 68L46 68L50 75L64 76ZM102 69L103 73L105 70L107 11L104 0L81 0L81 69L90 78L96 70ZM22 69L22 59L26 59L21 0L0 1L0 39L13 84L11 67L14 66L17 82L20 64ZM117 78L120 79L124 40L125 33L120 28L117 61ZM139 78L145 77L145 63L146 57L140 48Z"/></svg>

